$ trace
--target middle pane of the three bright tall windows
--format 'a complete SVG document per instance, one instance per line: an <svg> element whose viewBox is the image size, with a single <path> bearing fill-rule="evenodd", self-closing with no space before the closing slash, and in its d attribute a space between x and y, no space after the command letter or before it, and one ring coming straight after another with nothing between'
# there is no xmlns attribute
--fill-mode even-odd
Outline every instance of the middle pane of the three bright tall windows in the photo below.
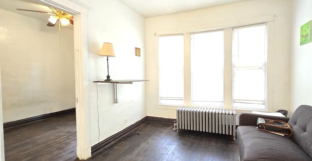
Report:
<svg viewBox="0 0 312 161"><path fill-rule="evenodd" d="M223 106L223 31L192 35L192 104Z"/></svg>

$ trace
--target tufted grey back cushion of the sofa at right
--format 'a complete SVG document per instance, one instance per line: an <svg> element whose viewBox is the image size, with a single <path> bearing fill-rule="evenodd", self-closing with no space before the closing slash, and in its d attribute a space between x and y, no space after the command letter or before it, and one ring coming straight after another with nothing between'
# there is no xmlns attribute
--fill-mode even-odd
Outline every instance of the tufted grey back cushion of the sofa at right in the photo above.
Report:
<svg viewBox="0 0 312 161"><path fill-rule="evenodd" d="M312 107L299 106L288 124L292 126L292 140L312 158Z"/></svg>

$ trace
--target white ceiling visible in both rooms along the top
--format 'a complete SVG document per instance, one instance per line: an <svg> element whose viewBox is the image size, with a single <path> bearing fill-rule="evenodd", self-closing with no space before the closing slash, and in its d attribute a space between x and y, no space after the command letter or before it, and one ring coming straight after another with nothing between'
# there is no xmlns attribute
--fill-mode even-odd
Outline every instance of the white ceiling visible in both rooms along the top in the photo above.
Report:
<svg viewBox="0 0 312 161"><path fill-rule="evenodd" d="M193 11L218 5L236 3L247 0L119 0L132 10L143 16L151 18L170 15L180 12ZM1 9L18 13L31 18L47 21L50 15L37 12L16 10L17 8L52 12L51 9L38 0L0 0Z"/></svg>

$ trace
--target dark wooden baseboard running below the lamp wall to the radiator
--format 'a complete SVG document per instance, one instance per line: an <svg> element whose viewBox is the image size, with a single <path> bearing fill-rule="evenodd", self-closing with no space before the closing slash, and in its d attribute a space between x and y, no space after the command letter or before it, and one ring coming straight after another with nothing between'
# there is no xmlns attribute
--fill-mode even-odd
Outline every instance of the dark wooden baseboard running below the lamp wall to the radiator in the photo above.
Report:
<svg viewBox="0 0 312 161"><path fill-rule="evenodd" d="M113 143L117 143L121 138L127 136L131 133L131 131L135 130L139 125L144 123L154 123L154 124L165 124L165 125L173 125L176 119L166 119L159 117L151 117L146 116L143 119L137 121L135 124L128 126L127 128L117 132L116 134L108 137L107 139L97 143L91 147L91 155L95 155L97 152L100 152L102 148L106 148Z"/></svg>

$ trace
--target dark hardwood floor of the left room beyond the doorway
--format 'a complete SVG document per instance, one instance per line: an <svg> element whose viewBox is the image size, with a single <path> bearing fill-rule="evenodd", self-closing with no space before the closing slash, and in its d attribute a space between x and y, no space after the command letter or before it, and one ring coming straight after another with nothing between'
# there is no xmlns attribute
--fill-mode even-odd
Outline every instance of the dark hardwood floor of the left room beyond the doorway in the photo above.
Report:
<svg viewBox="0 0 312 161"><path fill-rule="evenodd" d="M74 161L75 113L4 129L5 161Z"/></svg>

